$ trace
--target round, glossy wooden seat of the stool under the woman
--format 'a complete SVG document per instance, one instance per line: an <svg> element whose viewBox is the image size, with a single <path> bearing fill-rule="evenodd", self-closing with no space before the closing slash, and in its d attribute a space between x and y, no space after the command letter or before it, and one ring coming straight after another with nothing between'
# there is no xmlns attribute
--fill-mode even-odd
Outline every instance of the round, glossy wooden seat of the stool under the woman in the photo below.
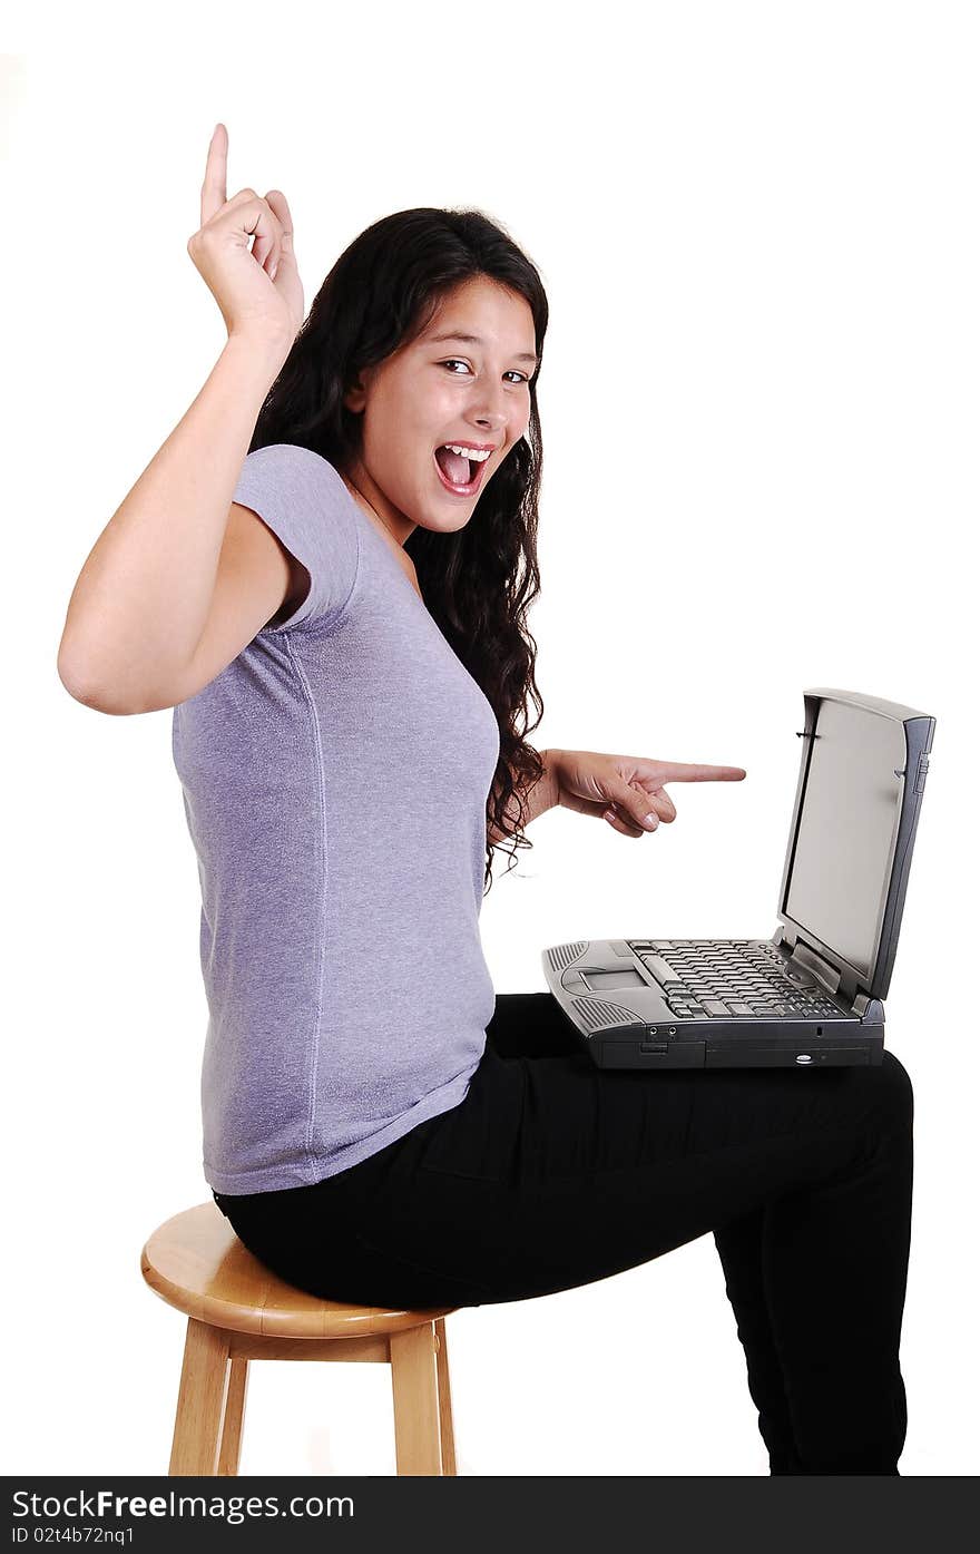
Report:
<svg viewBox="0 0 980 1554"><path fill-rule="evenodd" d="M151 1290L185 1316L264 1338L367 1338L419 1327L455 1310L390 1310L306 1294L253 1257L213 1201L155 1229L140 1267Z"/></svg>

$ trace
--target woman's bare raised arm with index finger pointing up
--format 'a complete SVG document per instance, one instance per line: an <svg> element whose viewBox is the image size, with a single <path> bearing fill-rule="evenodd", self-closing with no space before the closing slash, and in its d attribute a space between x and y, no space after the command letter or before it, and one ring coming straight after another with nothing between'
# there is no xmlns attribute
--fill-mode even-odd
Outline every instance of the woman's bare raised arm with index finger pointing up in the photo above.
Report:
<svg viewBox="0 0 980 1554"><path fill-rule="evenodd" d="M211 622L222 552L228 575L244 572L252 580L242 622L225 632L230 646L253 615L275 612L292 581L286 556L272 535L259 535L253 516L230 530L255 423L303 317L292 221L275 190L261 199L245 188L227 200L225 171L227 131L219 124L200 194L202 224L188 252L221 306L228 340L99 535L68 601L57 673L78 701L104 712L166 706L189 684ZM247 558L255 561L252 570L239 564ZM262 623L255 618L255 631Z"/></svg>

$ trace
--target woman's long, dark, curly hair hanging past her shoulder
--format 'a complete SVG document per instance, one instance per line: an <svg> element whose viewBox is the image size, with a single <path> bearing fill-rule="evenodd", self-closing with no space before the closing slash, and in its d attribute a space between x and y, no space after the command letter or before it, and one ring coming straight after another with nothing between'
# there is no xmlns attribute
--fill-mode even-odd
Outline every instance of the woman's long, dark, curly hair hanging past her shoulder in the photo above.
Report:
<svg viewBox="0 0 980 1554"><path fill-rule="evenodd" d="M345 474L360 455L360 416L345 393L365 367L385 361L435 317L447 292L488 277L528 303L540 359L548 300L534 264L508 233L478 210L418 210L384 216L340 255L303 323L283 370L262 404L248 452L295 443ZM440 631L497 715L500 758L488 796L483 894L492 884L494 847L509 848L508 872L522 830L522 793L544 775L544 761L526 743L544 715L534 679L537 643L528 606L540 592L537 499L540 420L537 370L531 376L526 437L511 449L480 494L472 517L452 535L416 525L405 541L422 598ZM536 718L528 723L528 701ZM516 800L514 803L511 800ZM489 822L502 833L489 839Z"/></svg>

